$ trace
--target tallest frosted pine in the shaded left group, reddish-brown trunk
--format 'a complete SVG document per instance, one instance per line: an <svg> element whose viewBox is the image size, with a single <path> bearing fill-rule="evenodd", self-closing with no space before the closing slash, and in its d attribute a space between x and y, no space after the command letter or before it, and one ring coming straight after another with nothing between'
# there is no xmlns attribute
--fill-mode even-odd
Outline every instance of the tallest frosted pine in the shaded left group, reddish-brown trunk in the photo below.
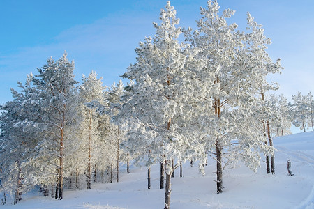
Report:
<svg viewBox="0 0 314 209"><path fill-rule="evenodd" d="M56 169L56 194L59 200L63 199L63 179L69 175L64 168L72 163L70 157L80 145L73 134L80 123L77 117L79 97L73 74L74 61L70 63L66 56L65 52L57 61L50 58L47 65L38 69L39 74L34 79L37 98L29 100L40 102L36 116L40 118L38 126L45 132L38 147L46 162L38 163L38 166L46 169L43 173L50 168ZM45 175L42 177L45 178Z"/></svg>

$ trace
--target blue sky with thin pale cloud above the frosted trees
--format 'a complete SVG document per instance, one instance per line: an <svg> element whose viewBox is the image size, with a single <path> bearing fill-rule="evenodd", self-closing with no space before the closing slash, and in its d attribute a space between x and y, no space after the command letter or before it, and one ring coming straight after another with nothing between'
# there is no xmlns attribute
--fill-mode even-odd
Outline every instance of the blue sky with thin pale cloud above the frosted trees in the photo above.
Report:
<svg viewBox="0 0 314 209"><path fill-rule="evenodd" d="M75 61L75 79L91 70L107 86L119 81L135 48L145 36L154 36L152 22L160 23L160 9L167 1L101 0L0 0L0 104L12 100L10 88L37 74L52 56L63 52ZM314 94L314 1L313 0L220 0L220 12L236 10L228 20L246 28L246 13L264 26L271 38L267 52L273 61L281 58L282 75L272 76L280 89L276 94L291 100L297 91ZM206 0L174 0L181 27L196 29L200 6Z"/></svg>

